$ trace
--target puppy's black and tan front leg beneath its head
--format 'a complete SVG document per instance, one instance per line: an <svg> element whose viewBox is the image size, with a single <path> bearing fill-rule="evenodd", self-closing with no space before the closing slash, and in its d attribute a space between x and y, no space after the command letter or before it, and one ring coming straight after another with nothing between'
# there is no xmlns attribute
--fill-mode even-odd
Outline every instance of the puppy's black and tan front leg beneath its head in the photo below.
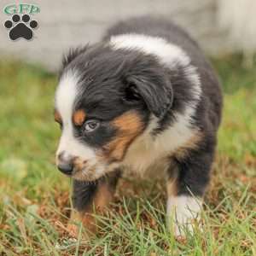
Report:
<svg viewBox="0 0 256 256"><path fill-rule="evenodd" d="M96 233L96 219L93 213L102 213L113 201L119 172L103 177L94 183L73 180L73 210L67 230L71 236L79 235L75 222L81 222L90 233Z"/></svg>

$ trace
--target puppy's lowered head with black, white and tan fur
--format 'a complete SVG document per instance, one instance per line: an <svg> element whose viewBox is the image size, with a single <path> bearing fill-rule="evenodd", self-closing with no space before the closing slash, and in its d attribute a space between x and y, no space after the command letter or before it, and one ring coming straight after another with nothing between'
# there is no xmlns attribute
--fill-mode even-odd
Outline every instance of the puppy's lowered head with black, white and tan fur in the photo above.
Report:
<svg viewBox="0 0 256 256"><path fill-rule="evenodd" d="M172 86L154 56L103 44L71 51L55 92L56 165L76 179L102 177L171 104Z"/></svg>

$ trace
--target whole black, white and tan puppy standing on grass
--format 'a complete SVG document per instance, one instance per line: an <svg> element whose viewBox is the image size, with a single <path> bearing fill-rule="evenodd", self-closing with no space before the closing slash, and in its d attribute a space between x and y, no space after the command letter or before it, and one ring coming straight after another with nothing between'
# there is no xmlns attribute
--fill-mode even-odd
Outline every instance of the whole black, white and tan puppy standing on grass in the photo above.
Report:
<svg viewBox="0 0 256 256"><path fill-rule="evenodd" d="M62 130L56 164L73 177L72 218L94 230L89 213L108 206L120 173L154 170L166 175L167 216L179 235L179 224L201 211L221 109L211 65L169 21L126 20L101 42L71 50L55 120Z"/></svg>

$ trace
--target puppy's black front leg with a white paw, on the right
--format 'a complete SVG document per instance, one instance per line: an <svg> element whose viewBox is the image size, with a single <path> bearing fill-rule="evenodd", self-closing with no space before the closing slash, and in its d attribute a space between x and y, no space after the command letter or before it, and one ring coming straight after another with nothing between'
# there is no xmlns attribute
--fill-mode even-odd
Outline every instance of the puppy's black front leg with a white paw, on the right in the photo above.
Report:
<svg viewBox="0 0 256 256"><path fill-rule="evenodd" d="M186 157L173 160L167 181L167 224L175 236L183 236L184 227L193 232L195 219L200 219L213 153L211 147L191 149Z"/></svg>

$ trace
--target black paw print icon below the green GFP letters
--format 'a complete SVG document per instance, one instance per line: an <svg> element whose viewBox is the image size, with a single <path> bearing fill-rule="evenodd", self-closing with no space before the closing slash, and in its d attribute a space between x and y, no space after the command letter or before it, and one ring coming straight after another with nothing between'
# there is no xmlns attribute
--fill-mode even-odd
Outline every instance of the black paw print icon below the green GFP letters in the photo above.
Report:
<svg viewBox="0 0 256 256"><path fill-rule="evenodd" d="M38 27L37 20L31 20L29 15L13 15L11 20L6 20L4 26L9 30L9 38L15 41L18 38L30 40L33 30Z"/></svg>

